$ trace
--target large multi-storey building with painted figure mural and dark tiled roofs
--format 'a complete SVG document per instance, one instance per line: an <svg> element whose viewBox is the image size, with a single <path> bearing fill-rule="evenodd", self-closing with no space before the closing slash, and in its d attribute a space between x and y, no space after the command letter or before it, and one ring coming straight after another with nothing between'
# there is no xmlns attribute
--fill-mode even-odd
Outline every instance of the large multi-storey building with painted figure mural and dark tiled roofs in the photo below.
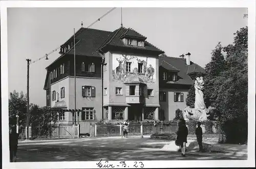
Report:
<svg viewBox="0 0 256 169"><path fill-rule="evenodd" d="M163 53L131 28L81 28L75 33L76 66L72 36L61 45L61 56L46 68L46 105L65 109L59 121L79 120L81 132L101 119L173 119L177 108L185 108L193 76L204 69L191 62L190 55L184 59L160 56ZM74 113L74 67L79 113Z"/></svg>

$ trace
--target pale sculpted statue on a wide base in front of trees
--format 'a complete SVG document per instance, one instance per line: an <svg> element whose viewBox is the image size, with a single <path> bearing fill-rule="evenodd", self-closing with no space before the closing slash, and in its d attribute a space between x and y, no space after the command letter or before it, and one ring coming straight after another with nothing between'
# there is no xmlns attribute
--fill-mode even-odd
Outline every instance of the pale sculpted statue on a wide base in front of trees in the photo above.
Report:
<svg viewBox="0 0 256 169"><path fill-rule="evenodd" d="M183 112L183 118L186 121L189 120L197 120L197 121L204 121L207 120L207 117L209 116L209 109L206 108L204 104L204 80L203 77L197 77L195 80L195 108L190 108L187 106Z"/></svg>

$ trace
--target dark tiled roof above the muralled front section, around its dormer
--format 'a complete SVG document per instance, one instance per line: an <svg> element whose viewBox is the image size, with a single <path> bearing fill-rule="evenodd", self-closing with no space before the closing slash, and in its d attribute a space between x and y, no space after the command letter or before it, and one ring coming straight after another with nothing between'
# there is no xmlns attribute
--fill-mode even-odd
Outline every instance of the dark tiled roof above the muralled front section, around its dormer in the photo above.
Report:
<svg viewBox="0 0 256 169"><path fill-rule="evenodd" d="M99 47L99 49L103 49L106 45L111 45L111 46L120 46L120 47L127 47L127 48L132 48L132 49L142 49L142 50L148 50L148 51L157 51L159 53L163 53L160 49L158 49L156 46L152 45L151 43L144 41L144 47L140 46L131 46L131 45L125 45L123 41L120 39L120 37L127 31L126 28L121 27L117 30L115 30L110 37ZM130 34L138 34L136 31L129 29ZM140 35L142 36L142 35Z"/></svg>

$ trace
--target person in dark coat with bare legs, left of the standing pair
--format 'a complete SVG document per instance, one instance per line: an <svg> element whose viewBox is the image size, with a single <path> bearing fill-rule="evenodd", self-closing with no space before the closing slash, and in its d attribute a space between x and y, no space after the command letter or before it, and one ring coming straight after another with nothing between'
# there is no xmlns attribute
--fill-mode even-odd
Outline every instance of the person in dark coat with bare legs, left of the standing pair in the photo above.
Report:
<svg viewBox="0 0 256 169"><path fill-rule="evenodd" d="M186 121L182 118L179 122L179 129L177 132L177 144L181 147L181 155L184 157L186 152L188 129L186 127Z"/></svg>

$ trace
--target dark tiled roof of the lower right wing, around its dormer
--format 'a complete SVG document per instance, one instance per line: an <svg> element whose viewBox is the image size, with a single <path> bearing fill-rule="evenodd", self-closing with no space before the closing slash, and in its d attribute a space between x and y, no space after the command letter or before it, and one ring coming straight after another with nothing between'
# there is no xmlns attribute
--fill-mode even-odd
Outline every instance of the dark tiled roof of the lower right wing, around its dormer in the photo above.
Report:
<svg viewBox="0 0 256 169"><path fill-rule="evenodd" d="M192 69L196 68L196 69L193 69L193 70L196 70L195 73L205 73L205 70L202 67L200 67L199 65L197 65L196 63L193 63L190 61L190 65L187 65L186 59L184 59L184 58L160 56L159 63L161 63L163 61L165 61L171 65L174 65L177 69L180 70L178 72L179 80L176 82L167 82L167 83L192 85L193 80L187 74L188 69L190 70L191 68Z"/></svg>

